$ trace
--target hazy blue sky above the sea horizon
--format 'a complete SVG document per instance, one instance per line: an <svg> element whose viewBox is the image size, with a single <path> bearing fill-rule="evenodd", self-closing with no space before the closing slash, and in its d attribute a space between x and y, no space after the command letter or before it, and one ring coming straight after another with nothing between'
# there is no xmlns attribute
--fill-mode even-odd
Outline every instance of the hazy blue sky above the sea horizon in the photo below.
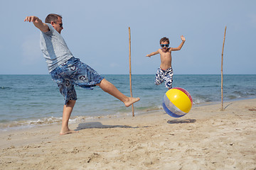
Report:
<svg viewBox="0 0 256 170"><path fill-rule="evenodd" d="M256 74L255 0L55 0L1 1L0 74L48 74L40 50L40 31L26 16L42 21L63 16L61 35L70 51L100 74L155 74L160 56L145 57L170 39L174 74Z"/></svg>

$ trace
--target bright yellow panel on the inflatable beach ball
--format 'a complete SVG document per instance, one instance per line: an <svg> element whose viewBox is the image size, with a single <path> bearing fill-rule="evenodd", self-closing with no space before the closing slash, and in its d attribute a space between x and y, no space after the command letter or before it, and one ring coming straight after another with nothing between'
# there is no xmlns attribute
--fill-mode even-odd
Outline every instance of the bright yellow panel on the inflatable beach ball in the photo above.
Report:
<svg viewBox="0 0 256 170"><path fill-rule="evenodd" d="M171 103L174 104L181 111L188 113L191 110L192 104L188 96L178 89L170 89L166 92L166 96L169 98Z"/></svg>

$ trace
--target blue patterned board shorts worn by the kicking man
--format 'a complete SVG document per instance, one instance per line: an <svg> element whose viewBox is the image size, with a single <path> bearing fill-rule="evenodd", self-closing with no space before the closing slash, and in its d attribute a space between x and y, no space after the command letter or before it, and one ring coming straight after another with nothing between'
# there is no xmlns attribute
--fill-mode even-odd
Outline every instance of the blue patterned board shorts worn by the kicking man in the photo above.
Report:
<svg viewBox="0 0 256 170"><path fill-rule="evenodd" d="M67 62L60 64L56 69L50 72L53 81L58 84L60 94L64 96L65 105L68 101L76 101L77 94L75 86L93 89L104 77L85 63L80 62L78 58L72 57Z"/></svg>

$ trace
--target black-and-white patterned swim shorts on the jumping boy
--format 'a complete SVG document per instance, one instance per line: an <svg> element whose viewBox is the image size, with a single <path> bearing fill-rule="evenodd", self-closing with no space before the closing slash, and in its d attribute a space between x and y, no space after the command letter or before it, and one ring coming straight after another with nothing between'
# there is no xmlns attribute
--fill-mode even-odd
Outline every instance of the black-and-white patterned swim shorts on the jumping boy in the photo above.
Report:
<svg viewBox="0 0 256 170"><path fill-rule="evenodd" d="M171 89L173 76L174 76L174 72L171 67L166 70L163 70L159 67L159 69L157 69L157 72L156 72L155 84L159 85L165 81L166 88Z"/></svg>

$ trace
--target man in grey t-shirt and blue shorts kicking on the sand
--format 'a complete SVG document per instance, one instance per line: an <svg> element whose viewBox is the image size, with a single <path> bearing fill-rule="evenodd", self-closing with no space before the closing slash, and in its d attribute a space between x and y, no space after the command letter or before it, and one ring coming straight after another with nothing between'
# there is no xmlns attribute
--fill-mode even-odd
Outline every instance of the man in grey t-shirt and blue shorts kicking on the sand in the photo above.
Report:
<svg viewBox="0 0 256 170"><path fill-rule="evenodd" d="M48 71L65 98L60 135L76 132L68 128L68 120L77 100L74 85L90 89L93 89L94 86L100 86L103 91L118 98L127 107L140 100L140 98L124 96L113 84L97 74L94 69L72 55L65 40L60 35L61 30L63 30L62 16L50 13L46 17L45 23L36 16L27 16L24 21L33 22L34 26L41 30L40 46L43 56L46 58Z"/></svg>

